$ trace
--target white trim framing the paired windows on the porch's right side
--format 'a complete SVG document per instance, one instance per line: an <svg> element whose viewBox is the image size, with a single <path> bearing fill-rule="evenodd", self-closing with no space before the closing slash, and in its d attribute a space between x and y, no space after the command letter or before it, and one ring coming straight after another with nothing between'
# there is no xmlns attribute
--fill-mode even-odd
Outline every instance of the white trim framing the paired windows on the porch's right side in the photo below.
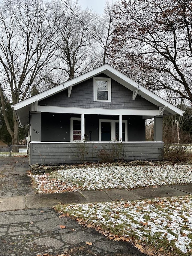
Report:
<svg viewBox="0 0 192 256"><path fill-rule="evenodd" d="M101 141L101 123L102 122L109 122L111 123L111 141L115 139L115 123L119 123L119 120L110 120L110 119L99 119L99 141ZM128 126L127 120L122 120L122 123L125 123L125 141L128 141ZM102 141L104 142L104 141ZM106 141L107 142L107 141Z"/></svg>

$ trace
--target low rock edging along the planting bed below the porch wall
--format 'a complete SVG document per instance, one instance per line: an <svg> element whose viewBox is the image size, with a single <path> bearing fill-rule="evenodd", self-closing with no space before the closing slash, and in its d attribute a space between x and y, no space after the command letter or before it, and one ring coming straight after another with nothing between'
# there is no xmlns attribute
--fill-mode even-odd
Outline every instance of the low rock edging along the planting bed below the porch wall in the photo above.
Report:
<svg viewBox="0 0 192 256"><path fill-rule="evenodd" d="M57 170L71 169L71 168L79 168L79 167L100 167L100 166L130 166L130 165L173 165L173 164L192 164L192 161L187 162L171 162L171 161L142 161L142 160L134 160L130 162L113 162L113 163L87 163L87 164L60 164L60 165L44 165L44 164L33 164L30 166L30 170L33 174L43 174L43 173L51 173Z"/></svg>

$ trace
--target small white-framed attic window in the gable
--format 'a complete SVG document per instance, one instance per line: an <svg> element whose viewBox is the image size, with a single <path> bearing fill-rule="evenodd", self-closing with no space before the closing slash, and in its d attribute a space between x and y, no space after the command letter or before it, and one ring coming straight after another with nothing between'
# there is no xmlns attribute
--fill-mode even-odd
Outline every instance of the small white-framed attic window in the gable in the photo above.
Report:
<svg viewBox="0 0 192 256"><path fill-rule="evenodd" d="M111 102L111 78L93 77L93 100Z"/></svg>

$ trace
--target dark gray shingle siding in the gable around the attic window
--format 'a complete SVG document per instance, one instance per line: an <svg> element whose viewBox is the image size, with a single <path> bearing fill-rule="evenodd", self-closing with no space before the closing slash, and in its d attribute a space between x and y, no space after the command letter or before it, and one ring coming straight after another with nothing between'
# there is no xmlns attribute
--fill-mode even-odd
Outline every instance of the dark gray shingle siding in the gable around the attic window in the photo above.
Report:
<svg viewBox="0 0 192 256"><path fill-rule="evenodd" d="M112 108L112 109L147 109L158 110L158 107L137 95L132 100L132 91L112 79L112 102L93 101L93 78L73 86L71 96L67 97L68 90L52 95L38 102L42 106L83 107L83 108Z"/></svg>

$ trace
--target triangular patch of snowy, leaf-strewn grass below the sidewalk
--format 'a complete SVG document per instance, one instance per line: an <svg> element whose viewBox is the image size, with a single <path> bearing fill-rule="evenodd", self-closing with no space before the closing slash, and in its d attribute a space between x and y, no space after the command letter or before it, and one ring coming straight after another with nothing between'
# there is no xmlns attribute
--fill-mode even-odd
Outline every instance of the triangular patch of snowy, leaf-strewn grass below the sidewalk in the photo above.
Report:
<svg viewBox="0 0 192 256"><path fill-rule="evenodd" d="M152 244L162 255L168 255L166 250L172 251L171 255L192 252L192 196L58 205L56 209L110 234L139 239L141 246Z"/></svg>

